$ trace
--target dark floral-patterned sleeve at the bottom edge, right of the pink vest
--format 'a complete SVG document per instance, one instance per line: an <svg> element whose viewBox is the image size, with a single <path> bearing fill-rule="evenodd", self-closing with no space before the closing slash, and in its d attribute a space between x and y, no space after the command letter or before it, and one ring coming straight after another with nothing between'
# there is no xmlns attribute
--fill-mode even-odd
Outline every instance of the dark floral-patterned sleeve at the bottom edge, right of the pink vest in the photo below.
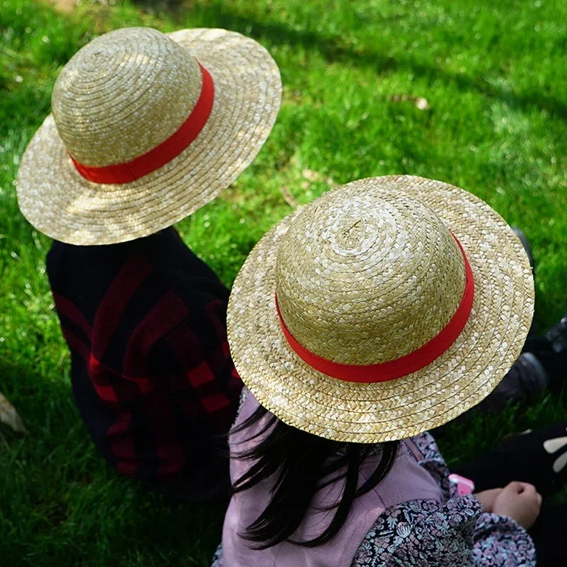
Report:
<svg viewBox="0 0 567 567"><path fill-rule="evenodd" d="M415 500L386 510L366 534L352 567L535 567L527 532L482 513L473 496L444 505Z"/></svg>

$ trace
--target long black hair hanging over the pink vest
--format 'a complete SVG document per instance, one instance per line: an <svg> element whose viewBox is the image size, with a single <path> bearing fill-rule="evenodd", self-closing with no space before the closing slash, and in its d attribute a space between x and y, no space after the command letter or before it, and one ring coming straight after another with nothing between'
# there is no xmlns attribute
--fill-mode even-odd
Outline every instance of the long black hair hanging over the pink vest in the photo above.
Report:
<svg viewBox="0 0 567 567"><path fill-rule="evenodd" d="M233 459L252 461L252 466L232 486L235 493L244 492L274 476L269 504L241 536L257 544L254 549L266 549L282 541L306 547L325 544L337 535L347 520L354 500L375 488L391 471L399 442L381 444L381 459L376 469L359 487L361 464L374 454L376 445L318 437L286 425L262 406L232 432L242 432L264 416L267 416L266 425L246 440L264 434L265 437L252 449L232 455ZM327 529L309 541L292 540L315 493L343 478L342 498L331 507L336 507L337 511Z"/></svg>

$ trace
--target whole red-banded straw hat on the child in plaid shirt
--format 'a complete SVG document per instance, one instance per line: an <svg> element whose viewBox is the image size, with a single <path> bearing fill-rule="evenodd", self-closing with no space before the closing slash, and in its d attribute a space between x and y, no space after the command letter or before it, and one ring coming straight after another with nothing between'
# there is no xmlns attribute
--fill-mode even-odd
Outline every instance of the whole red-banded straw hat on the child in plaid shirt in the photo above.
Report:
<svg viewBox="0 0 567 567"><path fill-rule="evenodd" d="M158 232L211 201L274 125L279 70L254 40L220 29L106 33L77 52L18 172L18 201L62 242Z"/></svg>

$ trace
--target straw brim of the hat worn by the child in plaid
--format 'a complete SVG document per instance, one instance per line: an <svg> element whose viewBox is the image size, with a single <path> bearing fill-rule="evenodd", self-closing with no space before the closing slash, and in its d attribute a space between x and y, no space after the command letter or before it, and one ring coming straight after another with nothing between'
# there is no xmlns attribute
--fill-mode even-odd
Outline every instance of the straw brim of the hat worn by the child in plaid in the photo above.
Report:
<svg viewBox="0 0 567 567"><path fill-rule="evenodd" d="M215 101L205 127L155 172L128 184L96 184L77 172L47 116L23 155L17 181L21 211L40 232L75 245L158 232L212 201L264 145L281 102L279 69L264 47L221 29L169 36L213 77Z"/></svg>

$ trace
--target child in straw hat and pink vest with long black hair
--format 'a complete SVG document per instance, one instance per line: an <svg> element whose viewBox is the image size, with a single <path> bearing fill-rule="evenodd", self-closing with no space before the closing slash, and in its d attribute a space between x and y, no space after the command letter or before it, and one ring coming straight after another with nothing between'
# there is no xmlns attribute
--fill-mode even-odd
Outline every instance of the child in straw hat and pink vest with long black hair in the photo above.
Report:
<svg viewBox="0 0 567 567"><path fill-rule="evenodd" d="M282 220L228 305L246 388L213 566L566 564L567 511L540 514L533 483L565 478L567 438L515 438L491 483L481 466L449 478L428 433L493 391L533 308L520 240L454 186L363 179Z"/></svg>

